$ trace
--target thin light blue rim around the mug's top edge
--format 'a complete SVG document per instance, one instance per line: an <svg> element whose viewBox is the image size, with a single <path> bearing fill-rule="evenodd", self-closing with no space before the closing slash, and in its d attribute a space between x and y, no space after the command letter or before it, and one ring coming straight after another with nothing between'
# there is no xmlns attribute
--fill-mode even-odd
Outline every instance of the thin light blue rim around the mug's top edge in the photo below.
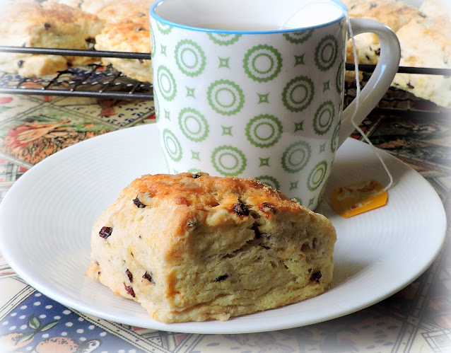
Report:
<svg viewBox="0 0 451 353"><path fill-rule="evenodd" d="M171 0L157 0L156 2L154 2L151 5L151 7L149 9L151 18L154 18L156 21L158 21L160 23L163 23L165 25L170 25L171 27L182 28L184 30L195 30L195 31L205 32L205 33L225 33L225 34L290 33L290 32L293 32L293 31L308 30L308 29L312 29L312 28L321 28L323 26L330 25L332 23L335 23L336 21L341 21L344 18L345 13L348 13L348 8L341 1L339 1L339 0L325 0L325 1L329 2L330 4L333 4L334 6L339 8L339 10L341 11L341 15L340 16L332 19L331 21L325 22L325 23L320 23L318 25L310 25L310 26L305 26L305 27L283 28L283 29L276 29L276 30L220 30L220 29L216 29L216 28L201 28L201 27L195 27L194 25L184 25L184 24L177 23L177 22L174 22L174 21L170 21L170 20L167 20L165 18L162 18L162 17L158 16L157 13L156 13L156 8L158 6L160 6L165 1L171 1Z"/></svg>

